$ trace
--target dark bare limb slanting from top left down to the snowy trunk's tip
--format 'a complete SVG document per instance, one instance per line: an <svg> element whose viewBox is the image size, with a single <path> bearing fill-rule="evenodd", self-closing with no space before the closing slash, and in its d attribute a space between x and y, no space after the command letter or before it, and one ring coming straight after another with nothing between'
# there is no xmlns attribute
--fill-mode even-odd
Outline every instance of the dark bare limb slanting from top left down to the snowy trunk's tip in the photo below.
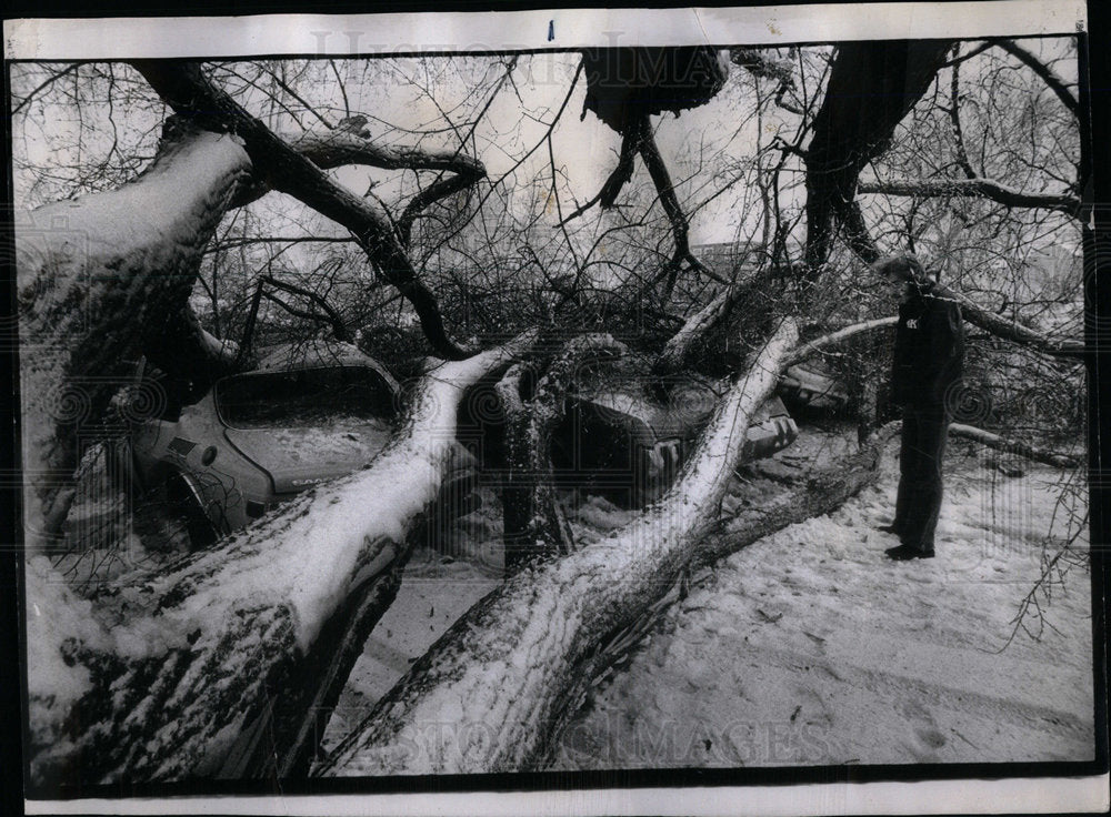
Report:
<svg viewBox="0 0 1111 817"><path fill-rule="evenodd" d="M134 68L181 117L243 140L256 172L273 190L288 193L350 230L378 273L412 304L438 354L461 360L468 353L448 334L436 296L420 281L389 215L334 183L320 168L277 137L231 97L216 88L196 62L137 60Z"/></svg>

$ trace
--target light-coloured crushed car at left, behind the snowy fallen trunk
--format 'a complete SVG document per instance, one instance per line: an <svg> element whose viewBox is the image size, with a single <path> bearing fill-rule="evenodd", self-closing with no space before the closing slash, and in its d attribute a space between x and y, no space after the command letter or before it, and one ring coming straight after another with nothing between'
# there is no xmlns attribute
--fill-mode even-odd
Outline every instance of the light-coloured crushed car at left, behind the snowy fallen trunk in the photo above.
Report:
<svg viewBox="0 0 1111 817"><path fill-rule="evenodd" d="M257 370L222 377L199 397L187 390L174 399L181 390L143 361L136 382L136 393L160 399L148 399L157 411L131 422L114 446L118 473L133 494L164 492L182 508L194 547L364 467L394 431L401 393L384 366L338 343L273 347ZM474 466L457 445L441 505L470 507L460 497Z"/></svg>

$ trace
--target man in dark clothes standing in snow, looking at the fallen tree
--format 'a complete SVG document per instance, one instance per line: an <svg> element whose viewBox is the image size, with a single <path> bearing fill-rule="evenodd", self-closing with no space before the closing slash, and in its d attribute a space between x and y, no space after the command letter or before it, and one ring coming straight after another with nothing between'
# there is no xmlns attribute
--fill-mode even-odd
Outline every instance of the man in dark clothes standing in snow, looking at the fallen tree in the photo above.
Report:
<svg viewBox="0 0 1111 817"><path fill-rule="evenodd" d="M950 420L945 397L963 370L964 324L937 274L913 255L881 259L874 270L899 300L891 399L903 411L895 518L881 528L902 544L885 553L899 561L931 558Z"/></svg>

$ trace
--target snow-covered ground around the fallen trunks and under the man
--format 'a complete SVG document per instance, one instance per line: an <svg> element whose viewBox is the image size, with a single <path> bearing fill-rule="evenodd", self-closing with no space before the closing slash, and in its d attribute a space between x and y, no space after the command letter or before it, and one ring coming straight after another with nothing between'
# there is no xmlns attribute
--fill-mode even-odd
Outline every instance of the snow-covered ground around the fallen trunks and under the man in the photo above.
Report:
<svg viewBox="0 0 1111 817"><path fill-rule="evenodd" d="M759 503L851 450L805 432L739 474L724 510ZM1021 463L1004 476L950 446L938 557L892 563L898 465L835 513L792 525L694 577L593 690L556 768L1081 760L1092 757L1090 576L1058 562L1052 596L1015 614L1084 515L1087 492ZM1063 495L1063 501L1061 500ZM498 585L497 508L460 521L452 553L421 548L324 736L327 750L471 604ZM580 535L630 517L589 498ZM1047 535L1057 542L1047 543ZM1087 549L1081 533L1073 548ZM458 557L463 554L466 557ZM1063 571L1063 575L1061 572ZM1013 637L1012 637L1013 635ZM1037 637L1040 635L1040 637Z"/></svg>

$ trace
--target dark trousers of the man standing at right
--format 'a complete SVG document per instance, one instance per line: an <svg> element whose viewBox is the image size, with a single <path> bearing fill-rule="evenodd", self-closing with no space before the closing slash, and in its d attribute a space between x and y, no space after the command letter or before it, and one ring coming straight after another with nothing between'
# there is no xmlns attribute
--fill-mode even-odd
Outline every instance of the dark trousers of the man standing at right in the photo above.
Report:
<svg viewBox="0 0 1111 817"><path fill-rule="evenodd" d="M941 466L948 430L944 405L903 406L893 526L904 545L925 553L933 553L933 532L941 511Z"/></svg>

